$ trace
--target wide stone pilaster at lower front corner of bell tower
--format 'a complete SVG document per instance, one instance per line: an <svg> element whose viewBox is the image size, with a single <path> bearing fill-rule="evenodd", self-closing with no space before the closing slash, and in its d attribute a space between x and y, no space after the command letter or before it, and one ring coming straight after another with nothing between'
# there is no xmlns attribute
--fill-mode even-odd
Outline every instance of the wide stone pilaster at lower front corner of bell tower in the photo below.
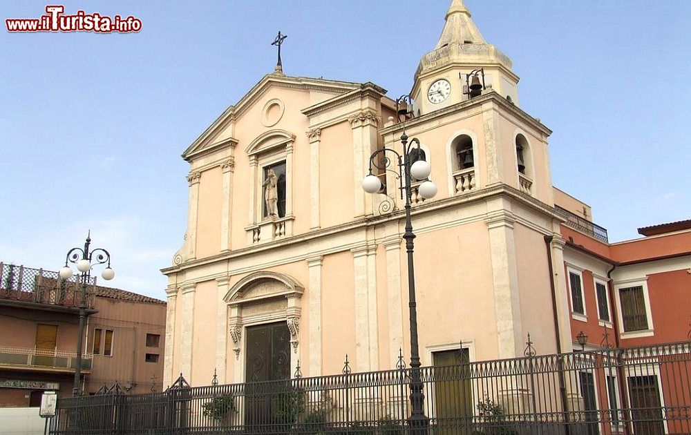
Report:
<svg viewBox="0 0 691 435"><path fill-rule="evenodd" d="M510 211L499 209L487 213L485 222L489 228L499 358L516 358L522 356L523 333L513 234L515 219Z"/></svg>

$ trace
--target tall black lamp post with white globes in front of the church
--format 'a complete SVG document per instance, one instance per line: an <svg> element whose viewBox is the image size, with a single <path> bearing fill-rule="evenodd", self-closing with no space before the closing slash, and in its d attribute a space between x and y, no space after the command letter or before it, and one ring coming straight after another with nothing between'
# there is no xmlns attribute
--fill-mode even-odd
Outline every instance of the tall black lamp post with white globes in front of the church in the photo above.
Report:
<svg viewBox="0 0 691 435"><path fill-rule="evenodd" d="M396 101L397 112L404 118L412 113L412 101L408 95L404 95ZM381 192L384 188L377 175L372 174L372 168L389 171L401 180L399 187L401 200L406 201L406 231L403 235L406 240L406 252L408 253L408 307L410 309L410 427L412 434L426 434L428 432L429 418L424 414L423 384L420 374L420 355L417 341L417 302L415 300L415 268L413 264L413 224L410 221L410 203L413 192L413 180L426 180L431 172L431 167L425 160L410 161L410 151L417 149L420 156L420 141L417 137L408 140L405 125L401 134L403 154L399 154L393 148L381 148L370 155L370 173L362 180L362 187L367 193ZM391 155L392 157L389 157ZM397 168L390 168L397 166ZM428 200L437 194L437 186L426 180L418 186L419 195Z"/></svg>

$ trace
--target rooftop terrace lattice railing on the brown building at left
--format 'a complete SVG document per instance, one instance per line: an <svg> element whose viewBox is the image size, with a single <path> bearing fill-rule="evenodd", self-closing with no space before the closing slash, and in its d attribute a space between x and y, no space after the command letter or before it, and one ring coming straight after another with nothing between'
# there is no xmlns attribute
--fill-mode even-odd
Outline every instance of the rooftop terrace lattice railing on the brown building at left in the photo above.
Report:
<svg viewBox="0 0 691 435"><path fill-rule="evenodd" d="M93 308L91 287L95 284L96 278L90 278L84 301L87 308ZM79 276L62 280L55 271L0 263L0 300L79 307L82 287Z"/></svg>

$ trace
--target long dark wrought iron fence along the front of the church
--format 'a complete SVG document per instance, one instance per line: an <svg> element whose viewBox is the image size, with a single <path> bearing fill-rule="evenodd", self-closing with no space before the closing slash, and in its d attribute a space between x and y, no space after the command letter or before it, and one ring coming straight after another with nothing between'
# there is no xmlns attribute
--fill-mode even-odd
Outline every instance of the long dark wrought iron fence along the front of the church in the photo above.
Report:
<svg viewBox="0 0 691 435"><path fill-rule="evenodd" d="M688 434L689 342L423 367L429 434ZM50 434L417 434L410 369L61 398ZM114 391L113 391L114 390Z"/></svg>

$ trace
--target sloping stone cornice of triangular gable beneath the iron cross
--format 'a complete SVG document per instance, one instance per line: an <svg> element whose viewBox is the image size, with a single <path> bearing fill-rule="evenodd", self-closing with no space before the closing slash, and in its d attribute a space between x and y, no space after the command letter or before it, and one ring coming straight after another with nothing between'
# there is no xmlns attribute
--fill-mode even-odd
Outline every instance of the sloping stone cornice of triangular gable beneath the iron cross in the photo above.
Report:
<svg viewBox="0 0 691 435"><path fill-rule="evenodd" d="M314 79L312 77L290 77L283 74L267 74L249 90L237 104L229 106L223 113L182 153L188 162L198 155L217 151L224 146L235 146L238 143L226 132L229 125L240 119L244 113L273 87L317 90L325 95L341 95L362 85L352 81Z"/></svg>

